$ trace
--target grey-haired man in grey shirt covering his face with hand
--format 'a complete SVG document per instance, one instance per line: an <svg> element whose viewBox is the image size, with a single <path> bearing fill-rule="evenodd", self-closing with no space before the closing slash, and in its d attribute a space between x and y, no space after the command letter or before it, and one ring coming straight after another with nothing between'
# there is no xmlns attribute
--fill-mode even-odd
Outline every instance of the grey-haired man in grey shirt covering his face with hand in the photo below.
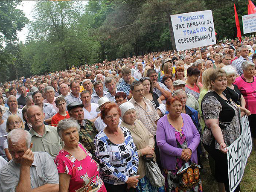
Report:
<svg viewBox="0 0 256 192"><path fill-rule="evenodd" d="M49 154L31 151L29 132L14 129L7 141L12 160L0 169L0 192L58 192L57 168Z"/></svg>

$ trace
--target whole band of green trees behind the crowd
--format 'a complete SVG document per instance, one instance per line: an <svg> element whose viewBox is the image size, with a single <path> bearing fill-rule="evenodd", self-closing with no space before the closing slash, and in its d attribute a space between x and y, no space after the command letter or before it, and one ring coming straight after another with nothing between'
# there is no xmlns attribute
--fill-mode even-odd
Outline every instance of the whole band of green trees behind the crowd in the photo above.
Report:
<svg viewBox="0 0 256 192"><path fill-rule="evenodd" d="M37 1L29 23L20 1L0 1L0 81L65 70L72 65L173 49L170 15L212 10L216 38L236 38L238 0ZM253 2L254 3L254 2ZM29 24L26 43L17 31ZM250 34L249 34L250 35ZM6 47L3 47L5 42Z"/></svg>

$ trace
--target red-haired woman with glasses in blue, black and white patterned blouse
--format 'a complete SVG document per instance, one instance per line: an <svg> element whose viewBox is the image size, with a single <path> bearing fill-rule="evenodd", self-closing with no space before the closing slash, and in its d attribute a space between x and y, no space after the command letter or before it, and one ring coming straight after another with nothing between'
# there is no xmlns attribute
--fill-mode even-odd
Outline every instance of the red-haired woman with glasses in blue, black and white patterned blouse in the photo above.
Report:
<svg viewBox="0 0 256 192"><path fill-rule="evenodd" d="M107 191L126 192L137 186L139 160L130 131L118 126L120 116L121 111L114 103L101 108L101 119L107 126L96 135L94 145Z"/></svg>

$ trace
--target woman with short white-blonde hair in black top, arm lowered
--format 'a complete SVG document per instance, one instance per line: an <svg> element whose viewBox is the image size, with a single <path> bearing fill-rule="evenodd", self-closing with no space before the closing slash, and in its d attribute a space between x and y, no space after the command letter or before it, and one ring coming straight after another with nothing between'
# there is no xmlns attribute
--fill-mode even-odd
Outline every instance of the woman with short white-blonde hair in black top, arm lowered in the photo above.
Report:
<svg viewBox="0 0 256 192"><path fill-rule="evenodd" d="M250 115L250 111L245 108L245 99L240 92L239 88L233 84L236 80L236 70L231 65L226 65L225 67L222 67L222 69L227 74L227 88L223 91L225 93L225 96L228 100L231 100L236 103L236 105L239 106L241 110L241 116L244 116L245 114Z"/></svg>

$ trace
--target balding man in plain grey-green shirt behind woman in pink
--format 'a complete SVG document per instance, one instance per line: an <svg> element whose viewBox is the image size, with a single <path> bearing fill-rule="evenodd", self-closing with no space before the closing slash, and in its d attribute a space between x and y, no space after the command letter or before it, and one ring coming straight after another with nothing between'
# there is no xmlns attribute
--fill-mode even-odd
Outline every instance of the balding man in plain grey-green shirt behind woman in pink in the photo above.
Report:
<svg viewBox="0 0 256 192"><path fill-rule="evenodd" d="M44 112L38 105L28 108L27 117L32 124L32 129L29 131L32 143L34 143L32 151L47 152L54 159L64 146L57 129L50 125L44 125Z"/></svg>

